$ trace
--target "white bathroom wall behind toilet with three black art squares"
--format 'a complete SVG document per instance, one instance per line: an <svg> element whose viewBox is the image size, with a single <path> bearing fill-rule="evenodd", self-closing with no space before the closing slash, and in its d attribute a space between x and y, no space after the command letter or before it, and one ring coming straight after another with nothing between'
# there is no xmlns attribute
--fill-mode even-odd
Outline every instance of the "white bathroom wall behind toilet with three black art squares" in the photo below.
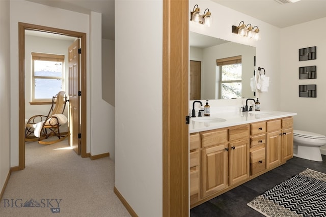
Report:
<svg viewBox="0 0 326 217"><path fill-rule="evenodd" d="M296 112L294 129L326 135L326 17L281 29L281 110ZM316 32L316 29L320 29ZM299 61L299 49L317 47L317 58ZM317 66L316 79L299 79L299 67ZM299 97L300 84L316 84L317 97ZM326 154L326 146L322 147Z"/></svg>

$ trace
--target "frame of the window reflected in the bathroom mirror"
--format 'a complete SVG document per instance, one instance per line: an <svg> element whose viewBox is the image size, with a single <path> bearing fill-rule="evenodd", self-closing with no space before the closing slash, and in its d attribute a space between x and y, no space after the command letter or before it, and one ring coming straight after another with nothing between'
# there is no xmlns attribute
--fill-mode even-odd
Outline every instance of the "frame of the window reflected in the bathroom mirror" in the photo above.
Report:
<svg viewBox="0 0 326 217"><path fill-rule="evenodd" d="M241 64L242 65L242 56L232 56L227 58L216 59L216 66L219 67L219 99L222 99L222 84L223 83L242 83L242 73L241 80L222 80L222 66L233 65L233 64ZM241 91L242 92L242 91ZM242 98L242 94L241 94Z"/></svg>

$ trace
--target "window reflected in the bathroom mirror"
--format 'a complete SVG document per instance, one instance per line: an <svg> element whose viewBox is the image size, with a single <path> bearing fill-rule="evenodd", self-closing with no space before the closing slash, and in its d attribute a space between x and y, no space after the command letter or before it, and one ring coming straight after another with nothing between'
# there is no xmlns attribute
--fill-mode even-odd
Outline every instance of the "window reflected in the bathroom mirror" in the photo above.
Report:
<svg viewBox="0 0 326 217"><path fill-rule="evenodd" d="M242 65L241 56L216 59L219 79L219 99L241 99Z"/></svg>

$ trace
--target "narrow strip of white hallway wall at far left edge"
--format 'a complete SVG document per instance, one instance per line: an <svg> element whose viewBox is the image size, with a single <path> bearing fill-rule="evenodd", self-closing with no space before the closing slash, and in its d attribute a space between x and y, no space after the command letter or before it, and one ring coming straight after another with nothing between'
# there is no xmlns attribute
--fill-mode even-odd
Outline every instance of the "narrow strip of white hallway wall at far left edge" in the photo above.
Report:
<svg viewBox="0 0 326 217"><path fill-rule="evenodd" d="M9 1L0 1L0 192L10 171Z"/></svg>

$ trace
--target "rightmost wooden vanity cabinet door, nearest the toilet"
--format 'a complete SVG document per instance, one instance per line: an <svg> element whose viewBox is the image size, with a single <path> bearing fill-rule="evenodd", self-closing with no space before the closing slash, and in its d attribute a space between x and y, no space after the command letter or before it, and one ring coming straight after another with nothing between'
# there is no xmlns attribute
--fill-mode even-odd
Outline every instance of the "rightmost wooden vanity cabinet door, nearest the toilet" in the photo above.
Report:
<svg viewBox="0 0 326 217"><path fill-rule="evenodd" d="M282 130L281 153L282 162L293 158L293 128Z"/></svg>

